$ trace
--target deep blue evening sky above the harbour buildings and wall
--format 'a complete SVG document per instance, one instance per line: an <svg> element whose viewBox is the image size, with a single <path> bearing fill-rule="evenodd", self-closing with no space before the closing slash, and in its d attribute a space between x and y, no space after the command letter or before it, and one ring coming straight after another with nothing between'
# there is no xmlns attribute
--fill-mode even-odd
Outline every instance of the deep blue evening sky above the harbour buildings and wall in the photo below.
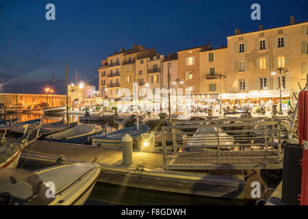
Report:
<svg viewBox="0 0 308 219"><path fill-rule="evenodd" d="M47 3L55 4L55 21L45 19ZM261 5L261 21L251 20L253 3ZM64 94L66 63L69 81L77 68L79 79L98 86L100 60L120 47L142 44L163 55L208 42L219 47L235 27L288 25L291 15L308 21L307 8L307 0L0 0L0 92L42 93L54 71L55 93Z"/></svg>

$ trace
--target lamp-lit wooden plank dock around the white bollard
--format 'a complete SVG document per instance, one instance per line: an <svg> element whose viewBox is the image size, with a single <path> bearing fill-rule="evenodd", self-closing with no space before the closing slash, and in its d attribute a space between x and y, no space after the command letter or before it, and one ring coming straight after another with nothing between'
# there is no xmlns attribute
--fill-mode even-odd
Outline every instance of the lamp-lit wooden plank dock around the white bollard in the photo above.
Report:
<svg viewBox="0 0 308 219"><path fill-rule="evenodd" d="M133 164L122 164L121 149L36 141L22 153L23 159L55 163L97 162L102 166L99 181L136 188L201 196L244 198L242 170L164 170L162 153L133 151Z"/></svg>

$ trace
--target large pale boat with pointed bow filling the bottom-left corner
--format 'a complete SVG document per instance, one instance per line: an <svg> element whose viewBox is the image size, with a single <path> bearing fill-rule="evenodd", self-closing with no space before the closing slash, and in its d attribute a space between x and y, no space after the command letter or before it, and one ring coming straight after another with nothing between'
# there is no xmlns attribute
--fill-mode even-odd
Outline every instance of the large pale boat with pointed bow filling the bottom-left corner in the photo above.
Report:
<svg viewBox="0 0 308 219"><path fill-rule="evenodd" d="M100 172L101 167L95 163L53 166L34 172L5 168L0 170L0 202L4 205L83 205Z"/></svg>

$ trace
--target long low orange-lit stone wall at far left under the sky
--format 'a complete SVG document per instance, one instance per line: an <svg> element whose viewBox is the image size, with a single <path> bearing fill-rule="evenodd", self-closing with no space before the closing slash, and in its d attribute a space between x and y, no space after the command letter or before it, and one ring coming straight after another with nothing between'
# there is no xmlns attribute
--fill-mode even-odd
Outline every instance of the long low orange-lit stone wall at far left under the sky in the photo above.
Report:
<svg viewBox="0 0 308 219"><path fill-rule="evenodd" d="M4 103L6 107L21 103L24 107L31 105L32 107L39 103L49 103L50 106L61 106L66 105L66 95L57 94L9 94L0 93L0 103Z"/></svg>

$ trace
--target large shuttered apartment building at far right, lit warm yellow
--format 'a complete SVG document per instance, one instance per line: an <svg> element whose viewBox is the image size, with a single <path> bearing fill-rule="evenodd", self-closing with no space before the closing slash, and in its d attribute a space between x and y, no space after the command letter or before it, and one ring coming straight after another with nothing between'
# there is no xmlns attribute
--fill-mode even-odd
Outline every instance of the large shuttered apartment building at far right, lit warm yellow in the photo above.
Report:
<svg viewBox="0 0 308 219"><path fill-rule="evenodd" d="M305 87L307 75L307 25L291 24L228 36L226 95L224 99L274 99L279 97L282 82L283 97ZM277 68L281 72L282 81ZM303 80L302 80L303 79ZM236 94L238 93L238 94Z"/></svg>

